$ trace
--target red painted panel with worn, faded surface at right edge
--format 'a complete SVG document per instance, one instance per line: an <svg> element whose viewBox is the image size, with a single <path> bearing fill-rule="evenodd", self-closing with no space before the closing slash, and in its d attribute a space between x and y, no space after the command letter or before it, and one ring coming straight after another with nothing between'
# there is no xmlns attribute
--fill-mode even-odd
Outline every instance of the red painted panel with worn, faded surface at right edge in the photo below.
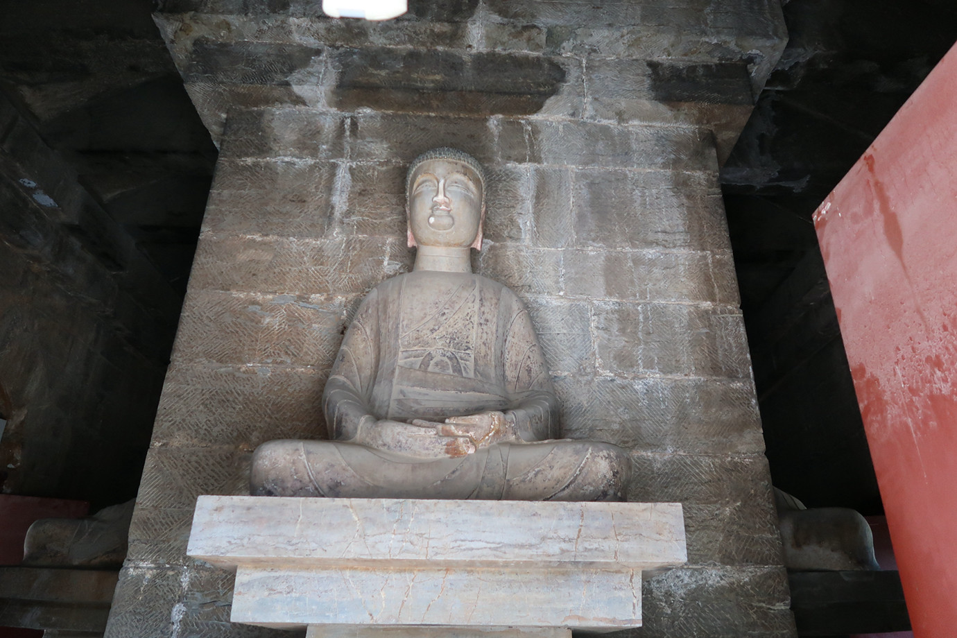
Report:
<svg viewBox="0 0 957 638"><path fill-rule="evenodd" d="M957 635L957 47L814 226L914 634Z"/></svg>

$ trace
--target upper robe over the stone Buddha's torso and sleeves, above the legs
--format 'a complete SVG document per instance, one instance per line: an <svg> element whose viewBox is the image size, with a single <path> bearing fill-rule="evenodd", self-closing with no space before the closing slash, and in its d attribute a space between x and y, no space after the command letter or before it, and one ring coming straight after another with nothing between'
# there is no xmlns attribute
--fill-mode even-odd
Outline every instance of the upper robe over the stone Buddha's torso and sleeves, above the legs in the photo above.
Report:
<svg viewBox="0 0 957 638"><path fill-rule="evenodd" d="M557 434L557 407L522 301L486 277L424 271L366 297L325 385L329 438L347 441L368 416L443 422L501 410L523 441Z"/></svg>

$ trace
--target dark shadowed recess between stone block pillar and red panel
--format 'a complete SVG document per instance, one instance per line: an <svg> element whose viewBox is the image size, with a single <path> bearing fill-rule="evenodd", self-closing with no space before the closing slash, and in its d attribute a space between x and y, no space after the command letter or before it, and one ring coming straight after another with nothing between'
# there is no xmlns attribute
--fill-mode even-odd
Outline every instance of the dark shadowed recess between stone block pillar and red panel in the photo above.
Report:
<svg viewBox="0 0 957 638"><path fill-rule="evenodd" d="M722 182L775 485L882 507L811 214L957 40L946 0L790 0Z"/></svg>

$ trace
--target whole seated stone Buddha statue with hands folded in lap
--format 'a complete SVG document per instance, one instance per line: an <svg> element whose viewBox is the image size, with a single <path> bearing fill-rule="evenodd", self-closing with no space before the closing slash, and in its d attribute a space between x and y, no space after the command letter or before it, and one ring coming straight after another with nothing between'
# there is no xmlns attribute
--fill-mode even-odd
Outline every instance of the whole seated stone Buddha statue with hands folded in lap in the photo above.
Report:
<svg viewBox="0 0 957 638"><path fill-rule="evenodd" d="M485 179L453 148L409 169L411 273L376 286L323 393L329 441L259 446L254 495L621 500L625 451L556 439L558 401L519 297L472 273Z"/></svg>

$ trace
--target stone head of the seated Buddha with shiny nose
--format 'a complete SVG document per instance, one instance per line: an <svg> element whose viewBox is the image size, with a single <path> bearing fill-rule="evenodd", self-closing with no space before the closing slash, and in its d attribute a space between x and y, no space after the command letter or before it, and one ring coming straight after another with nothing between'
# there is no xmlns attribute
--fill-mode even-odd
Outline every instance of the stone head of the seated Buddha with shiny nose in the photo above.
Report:
<svg viewBox="0 0 957 638"><path fill-rule="evenodd" d="M406 180L409 247L481 250L485 174L457 148L433 148L409 166Z"/></svg>

